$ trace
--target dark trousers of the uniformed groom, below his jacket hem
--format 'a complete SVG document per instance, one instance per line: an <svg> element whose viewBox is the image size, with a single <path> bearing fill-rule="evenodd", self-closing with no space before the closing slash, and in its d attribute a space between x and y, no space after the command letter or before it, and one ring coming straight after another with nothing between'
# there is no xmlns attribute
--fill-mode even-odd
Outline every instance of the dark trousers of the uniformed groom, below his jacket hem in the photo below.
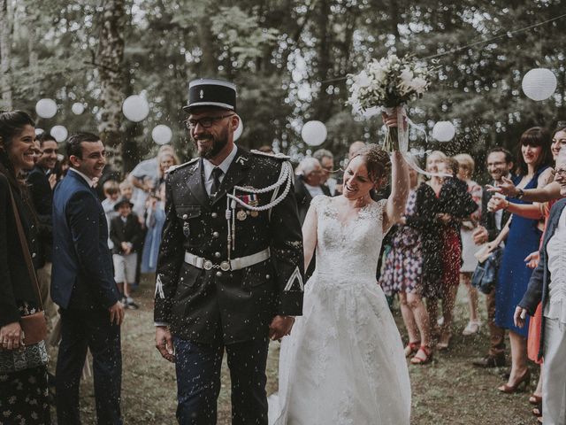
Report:
<svg viewBox="0 0 566 425"><path fill-rule="evenodd" d="M218 344L197 344L176 337L174 345L180 425L216 424L225 349L232 381L233 425L267 425L267 339L225 346L221 338Z"/></svg>

